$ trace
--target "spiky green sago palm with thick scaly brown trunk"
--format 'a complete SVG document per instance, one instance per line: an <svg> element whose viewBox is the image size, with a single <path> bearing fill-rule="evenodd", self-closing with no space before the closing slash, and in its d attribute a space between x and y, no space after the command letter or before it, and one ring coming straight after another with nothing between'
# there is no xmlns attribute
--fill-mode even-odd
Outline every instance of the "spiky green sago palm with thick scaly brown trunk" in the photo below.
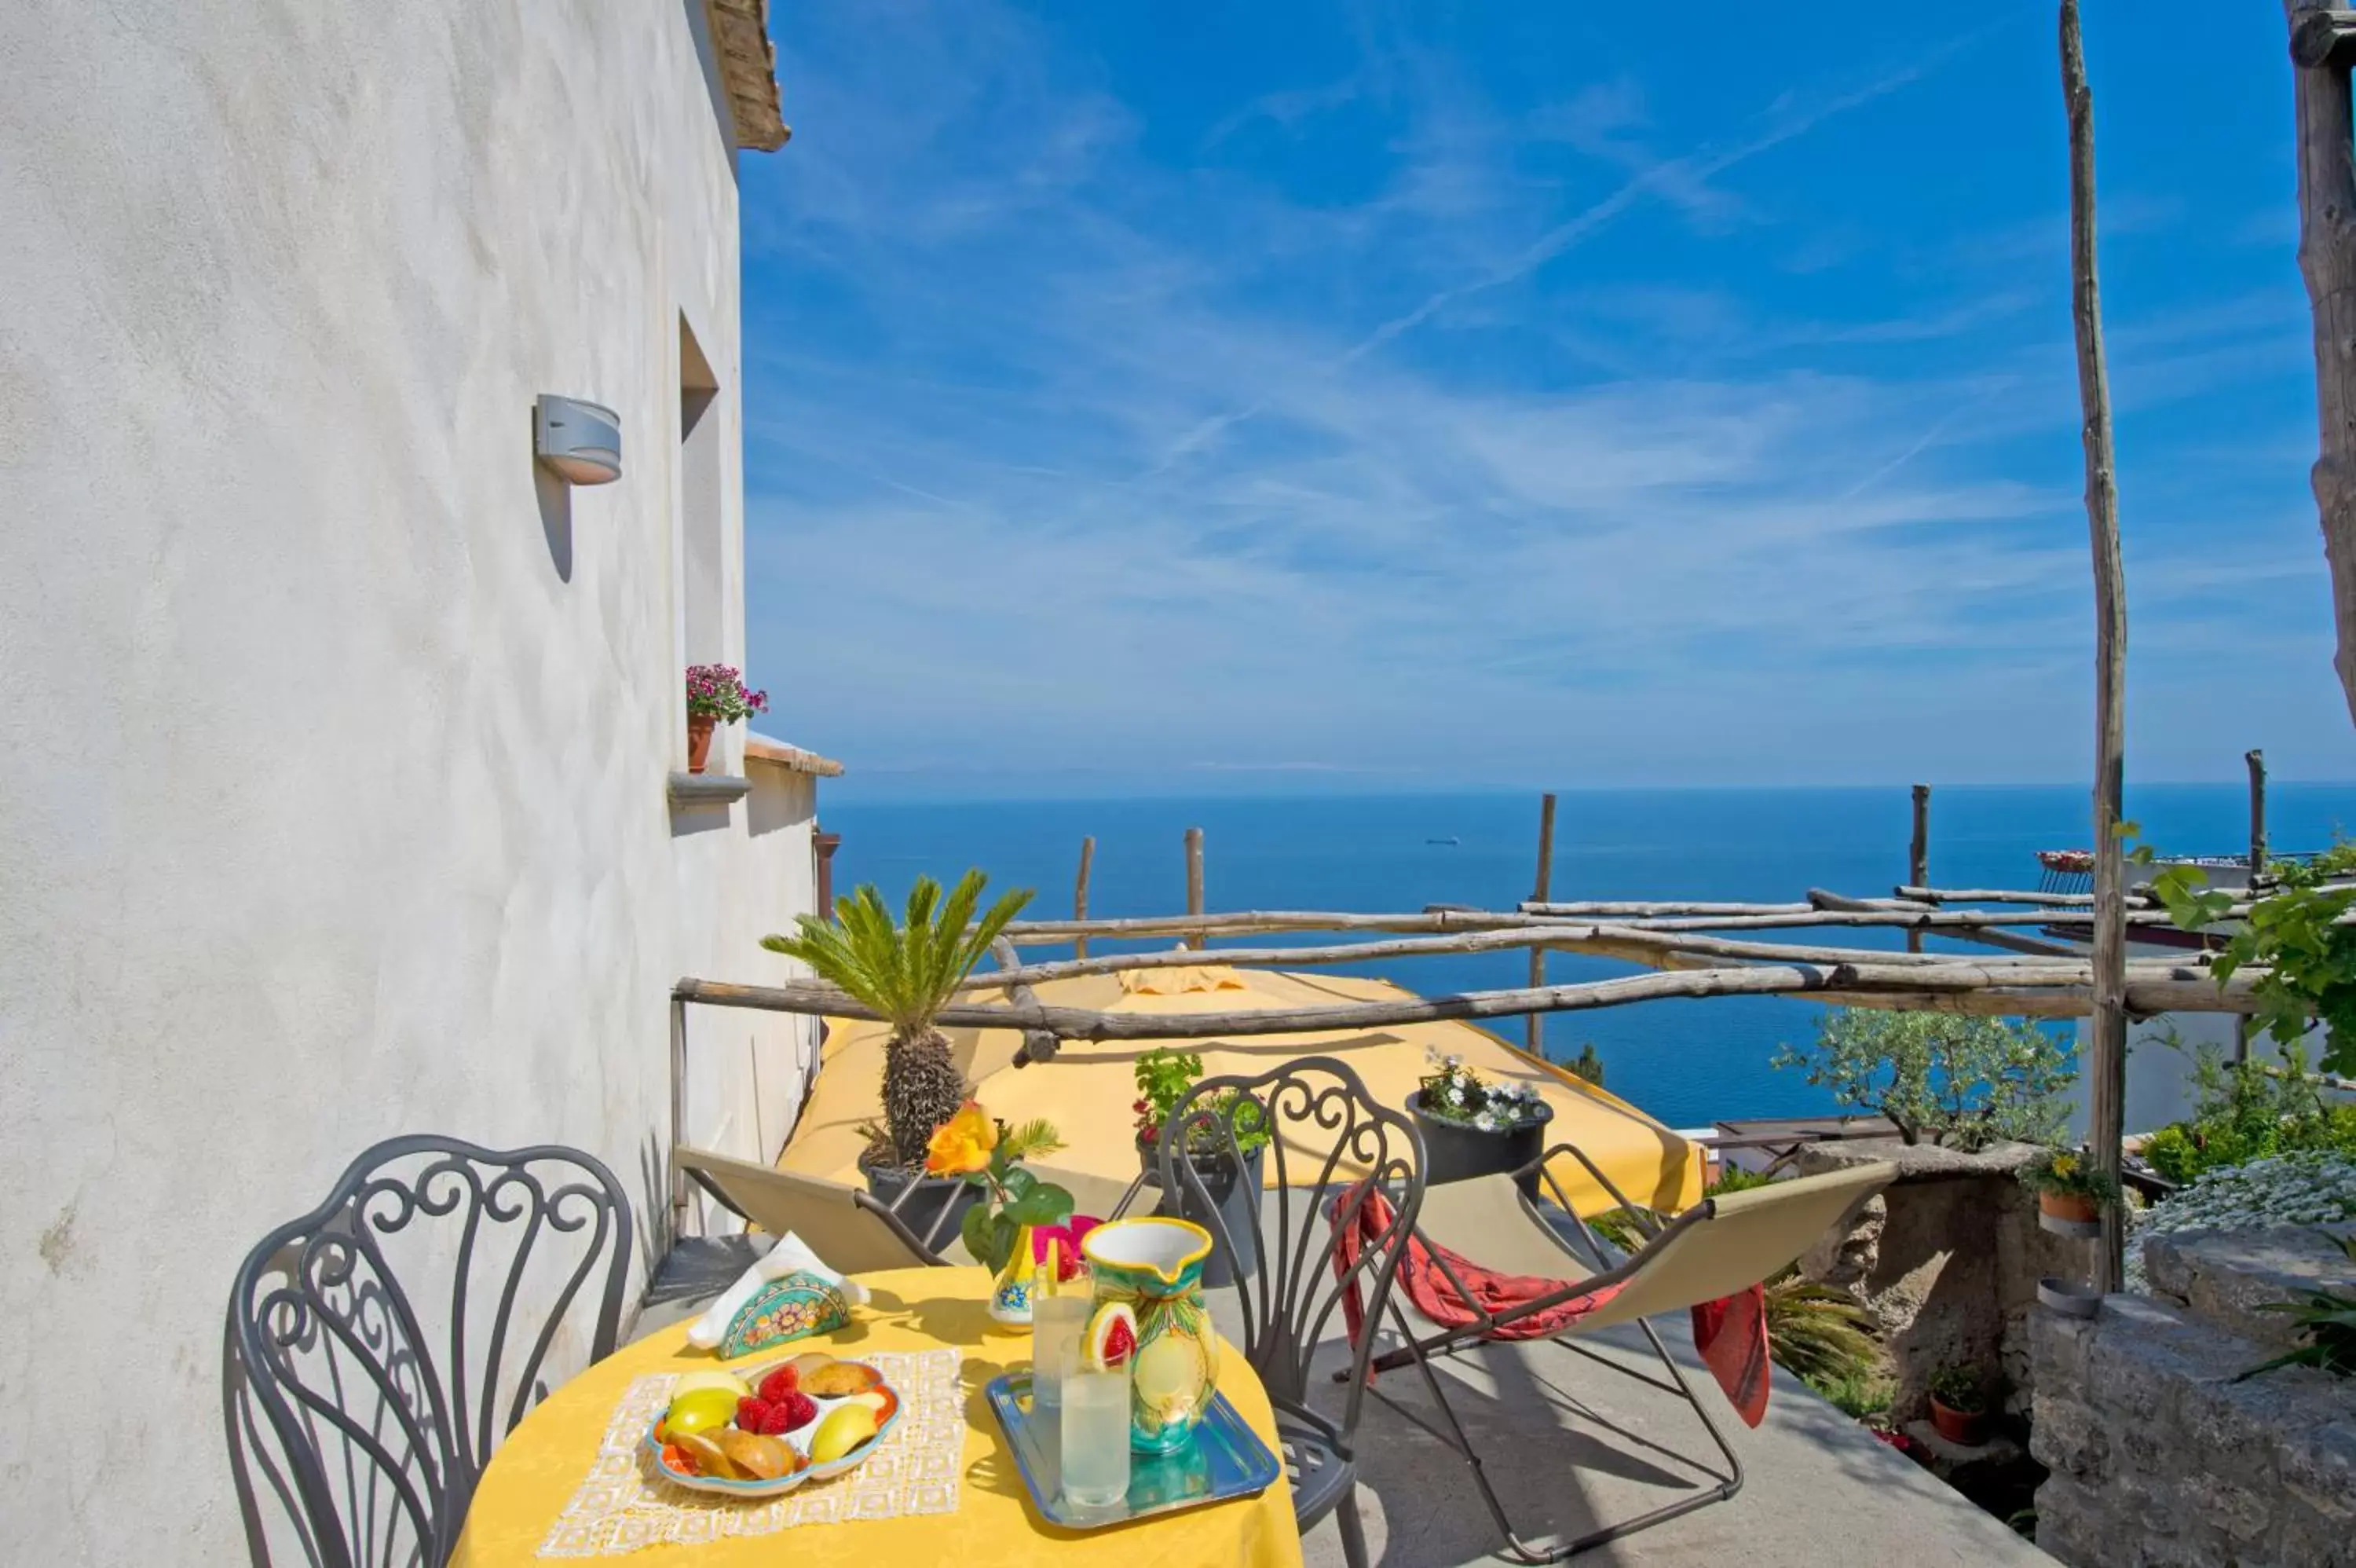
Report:
<svg viewBox="0 0 2356 1568"><path fill-rule="evenodd" d="M851 993L891 1023L884 1042L884 1132L891 1162L902 1170L924 1165L926 1139L966 1099L966 1080L933 1019L1032 898L1027 887L1011 891L975 920L987 882L978 868L968 870L942 898L940 882L916 877L900 924L893 924L884 896L869 882L834 901L834 920L799 915L794 936L761 938L770 953L799 957L818 979Z"/></svg>

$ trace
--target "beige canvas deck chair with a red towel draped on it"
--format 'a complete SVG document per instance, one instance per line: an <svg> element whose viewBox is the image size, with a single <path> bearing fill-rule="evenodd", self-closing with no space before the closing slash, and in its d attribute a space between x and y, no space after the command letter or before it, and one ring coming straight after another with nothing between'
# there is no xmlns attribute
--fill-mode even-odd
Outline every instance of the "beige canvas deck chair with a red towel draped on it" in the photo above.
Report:
<svg viewBox="0 0 2356 1568"><path fill-rule="evenodd" d="M1607 1261L1614 1252L1604 1247L1581 1219L1576 1219L1562 1188L1550 1174L1546 1174L1546 1165L1555 1155L1569 1155L1586 1165L1604 1191L1619 1198L1630 1214L1637 1214L1640 1226L1649 1228L1649 1240L1633 1257ZM1522 1191L1517 1179L1527 1179L1531 1174L1553 1188L1553 1205L1543 1205ZM1689 1309L1701 1302L1715 1302L1718 1297L1727 1297L1767 1280L1807 1252L1816 1238L1840 1224L1852 1207L1887 1186L1894 1174L1897 1167L1892 1165L1864 1165L1824 1177L1776 1181L1772 1186L1703 1198L1694 1207L1666 1221L1652 1217L1649 1210L1628 1203L1626 1195L1612 1186L1612 1179L1569 1144L1557 1144L1534 1165L1522 1167L1522 1172L1515 1174L1432 1186L1425 1191L1423 1212L1416 1224L1418 1240L1440 1243L1451 1252L1477 1261L1482 1269L1562 1280L1562 1287L1538 1299L1522 1302L1505 1313L1482 1313L1463 1327L1442 1327L1440 1332L1425 1335L1416 1335L1407 1323L1407 1313L1402 1309L1411 1309L1414 1302L1409 1299L1404 1285L1392 1290L1390 1318L1404 1344L1376 1356L1374 1370L1388 1372L1414 1365L1423 1375L1423 1386L1430 1391L1444 1429L1425 1419L1423 1412L1385 1396L1378 1386L1371 1386L1369 1391L1465 1460L1472 1469L1472 1481L1480 1488L1482 1502L1489 1504L1491 1518L1496 1518L1498 1530L1505 1535L1508 1551L1524 1563L1560 1563L1562 1559L1590 1547L1647 1530L1656 1523L1677 1518L1680 1514L1710 1507L1713 1502L1725 1502L1741 1490L1741 1460L1727 1443L1718 1419L1710 1417L1710 1410L1694 1398L1694 1389L1685 1379L1685 1370L1670 1358L1668 1346L1661 1344L1659 1332L1654 1332L1647 1318L1663 1311ZM1465 1283L1456 1278L1456 1273L1437 1254L1432 1261L1458 1287L1458 1294L1470 1302L1472 1292L1465 1290ZM1482 1344L1505 1344L1508 1339L1498 1330L1612 1285L1621 1287L1619 1294L1569 1327L1546 1335L1546 1339L1553 1339L1562 1349L1586 1356L1597 1365L1612 1368L1614 1372L1623 1372L1647 1386L1682 1398L1694 1408L1694 1415L1701 1419L1710 1441L1718 1445L1718 1452L1725 1457L1725 1471L1715 1471L1696 1462L1699 1469L1715 1478L1715 1485L1668 1502L1649 1514L1600 1526L1576 1540L1531 1542L1515 1530L1513 1518L1505 1514L1505 1504L1498 1500L1496 1488L1482 1471L1480 1452L1465 1436L1463 1422L1456 1419L1456 1410L1449 1405L1440 1377L1432 1370L1432 1361L1456 1356ZM1586 1346L1571 1344L1571 1339L1581 1335L1593 1335L1595 1330L1619 1323L1635 1323L1642 1330L1654 1356L1659 1356L1661 1368L1668 1372L1666 1382L1654 1379L1637 1368L1621 1365L1619 1361L1595 1356ZM1536 1342L1538 1339L1520 1339L1520 1344Z"/></svg>

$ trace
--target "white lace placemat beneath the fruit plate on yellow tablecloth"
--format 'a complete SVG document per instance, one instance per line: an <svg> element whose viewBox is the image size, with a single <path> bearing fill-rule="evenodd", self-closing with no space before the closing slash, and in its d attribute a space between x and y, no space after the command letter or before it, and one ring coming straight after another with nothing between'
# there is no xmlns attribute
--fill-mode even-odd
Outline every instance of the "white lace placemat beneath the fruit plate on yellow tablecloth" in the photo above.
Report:
<svg viewBox="0 0 2356 1568"><path fill-rule="evenodd" d="M615 1556L794 1526L954 1514L966 1455L959 1358L954 1349L860 1356L900 1396L900 1424L848 1476L806 1481L768 1502L712 1497L667 1481L646 1452L646 1429L671 1403L679 1372L638 1377L615 1405L596 1464L540 1542L540 1556Z"/></svg>

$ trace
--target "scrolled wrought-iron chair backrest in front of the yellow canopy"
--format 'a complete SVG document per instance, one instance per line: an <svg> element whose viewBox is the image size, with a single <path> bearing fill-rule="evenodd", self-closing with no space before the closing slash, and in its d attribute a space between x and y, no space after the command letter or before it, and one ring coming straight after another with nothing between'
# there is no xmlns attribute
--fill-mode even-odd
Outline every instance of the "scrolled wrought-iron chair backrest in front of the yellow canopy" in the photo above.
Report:
<svg viewBox="0 0 2356 1568"><path fill-rule="evenodd" d="M1190 1193L1190 1207L1211 1217L1213 1245L1227 1252L1242 1238L1230 1233L1197 1160L1209 1148L1242 1162L1253 1134L1268 1137L1270 1191L1242 1205L1260 1261L1258 1278L1235 1283L1244 1358L1277 1405L1305 1412L1310 1361L1329 1332L1341 1339L1336 1311L1345 1294L1357 1294L1369 1325L1390 1299L1402 1243L1423 1207L1423 1139L1404 1113L1376 1101L1357 1073L1331 1056L1296 1056L1258 1078L1206 1078L1178 1101L1162 1132L1162 1191ZM1369 1226L1357 1257L1336 1273L1341 1238L1357 1226L1371 1191L1390 1200L1390 1219ZM1336 1207L1338 1217L1329 1214ZM1374 1335L1359 1335L1338 1422L1345 1441L1357 1429L1371 1351Z"/></svg>

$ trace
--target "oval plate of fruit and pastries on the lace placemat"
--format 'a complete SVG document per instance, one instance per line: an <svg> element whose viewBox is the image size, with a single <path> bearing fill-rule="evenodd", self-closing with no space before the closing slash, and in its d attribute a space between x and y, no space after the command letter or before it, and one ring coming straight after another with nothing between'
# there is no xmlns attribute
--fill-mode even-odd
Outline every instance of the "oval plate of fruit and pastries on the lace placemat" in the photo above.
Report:
<svg viewBox="0 0 2356 1568"><path fill-rule="evenodd" d="M900 1419L865 1361L820 1351L744 1372L683 1372L646 1434L664 1478L721 1497L777 1497L858 1469Z"/></svg>

